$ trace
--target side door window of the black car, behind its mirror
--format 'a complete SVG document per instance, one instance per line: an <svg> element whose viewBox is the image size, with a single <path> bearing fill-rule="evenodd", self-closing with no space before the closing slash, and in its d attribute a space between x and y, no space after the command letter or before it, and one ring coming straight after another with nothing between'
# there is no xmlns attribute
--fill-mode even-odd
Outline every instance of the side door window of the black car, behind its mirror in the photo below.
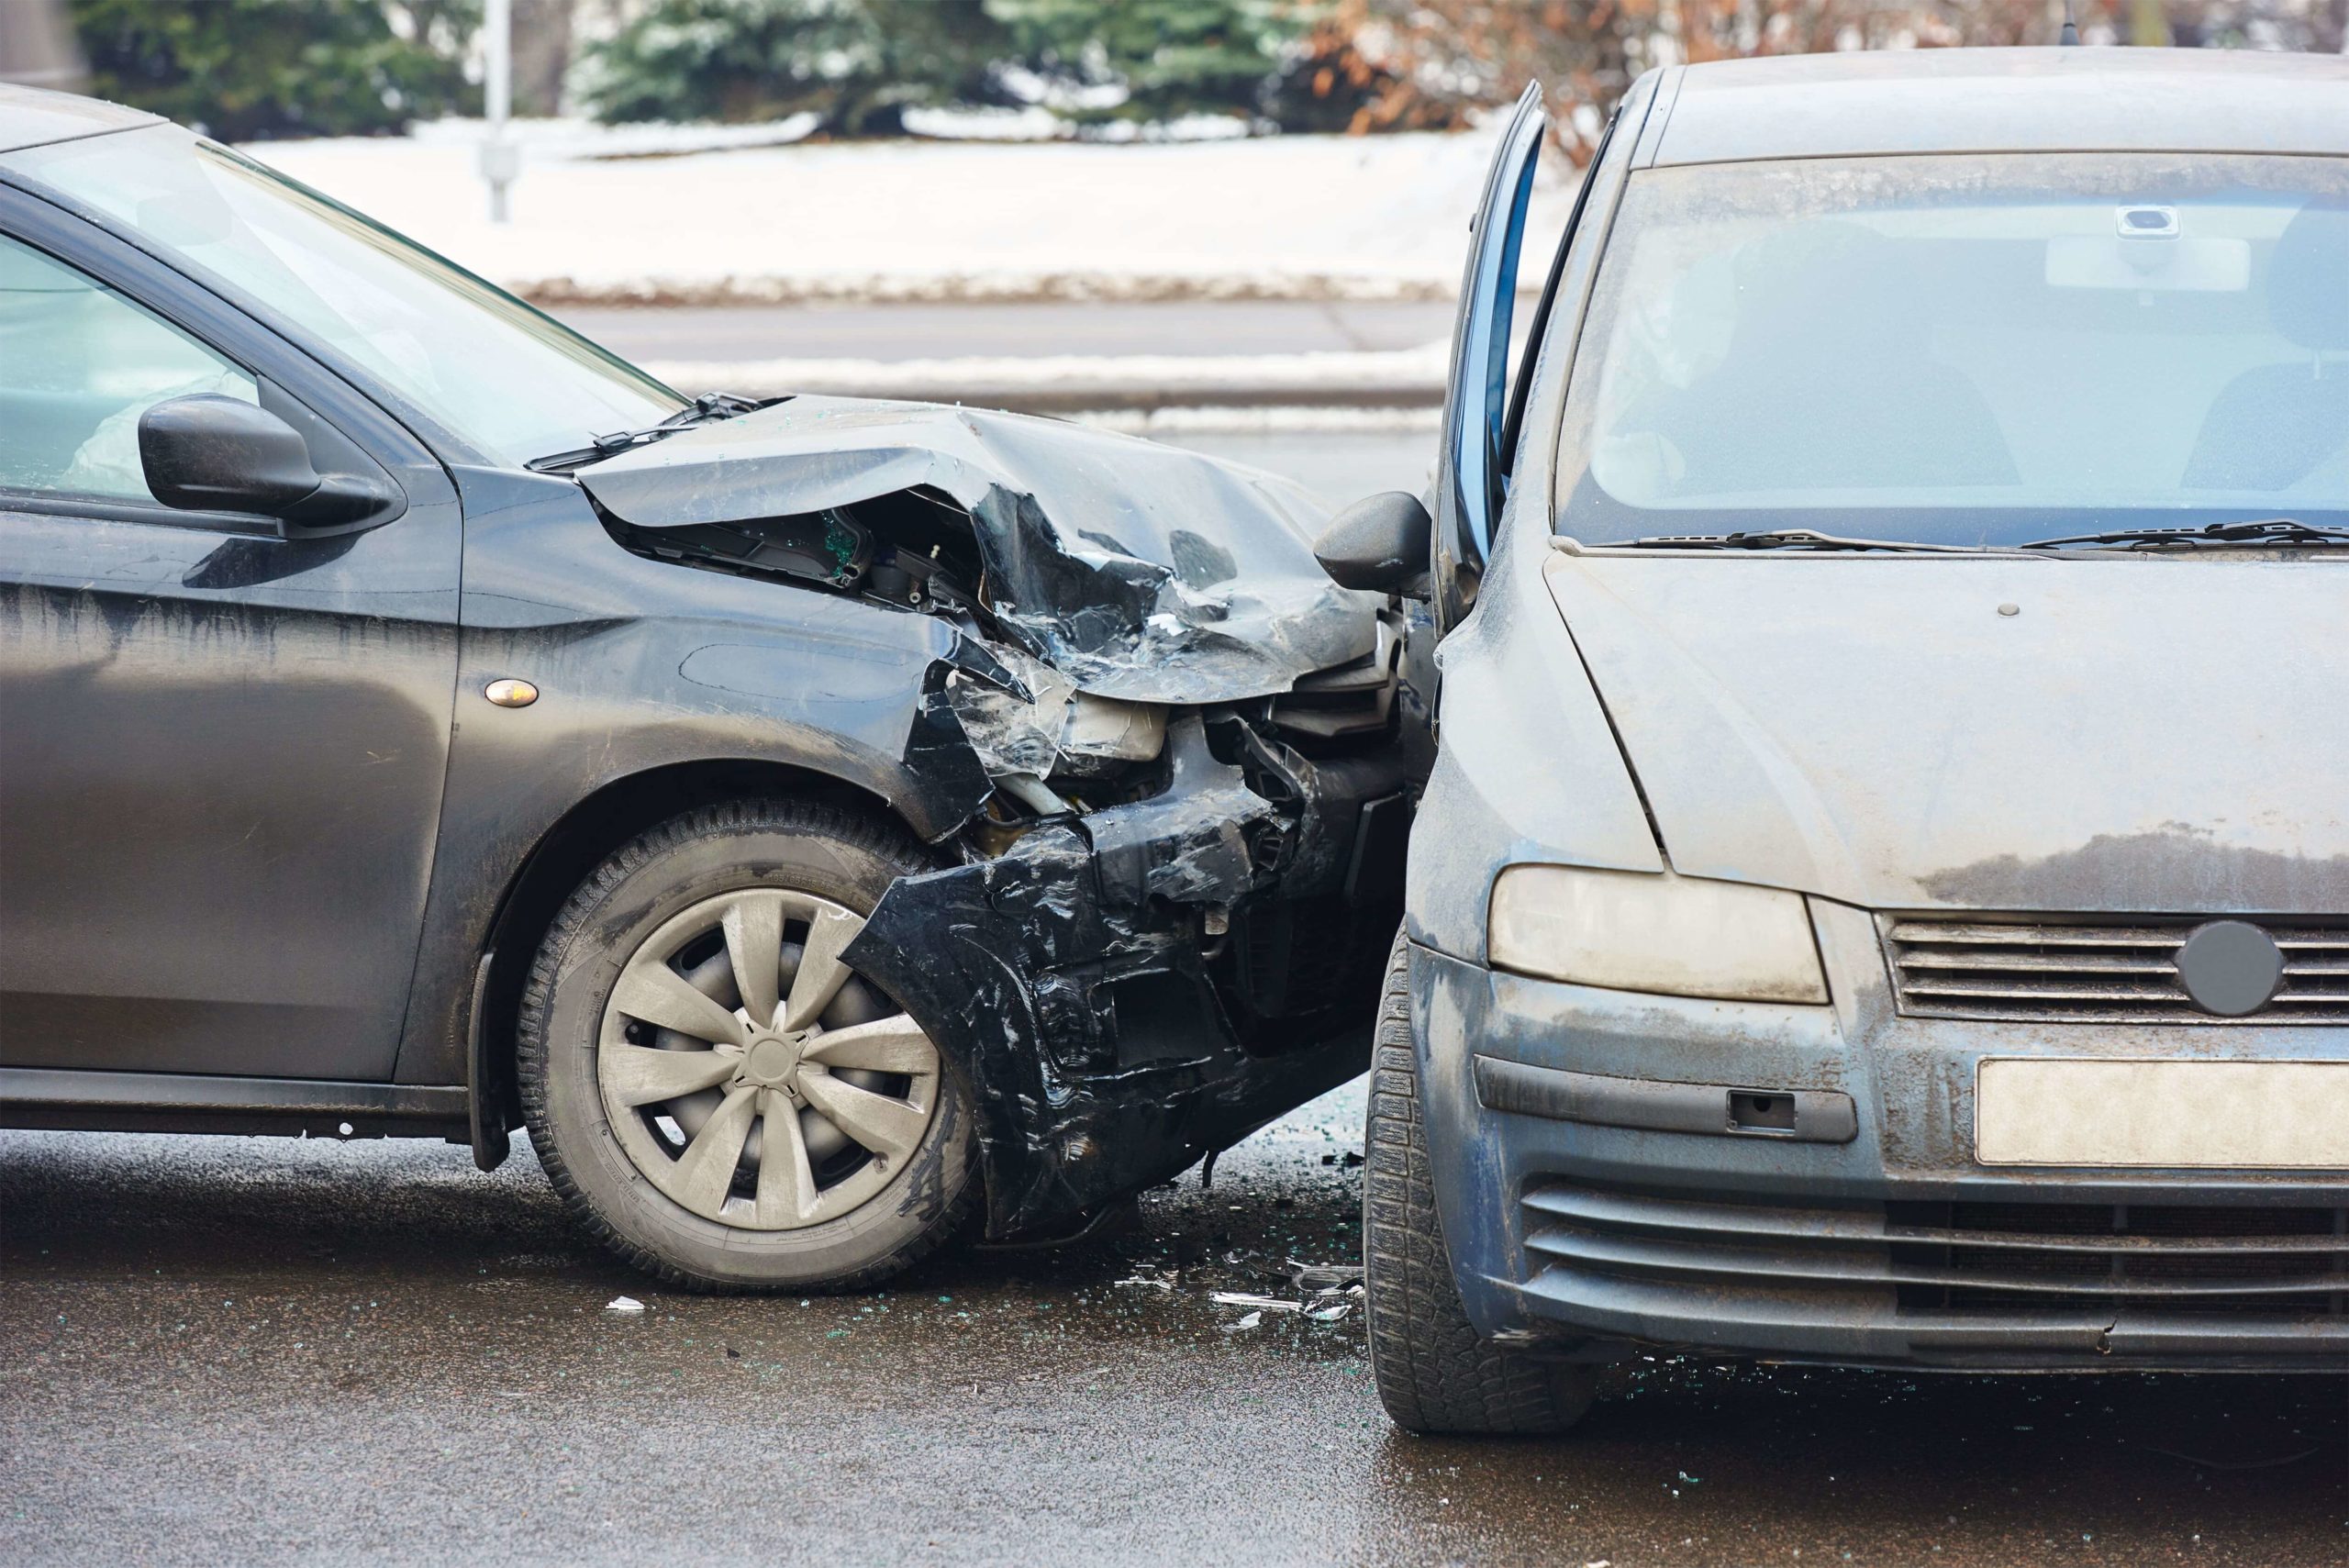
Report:
<svg viewBox="0 0 2349 1568"><path fill-rule="evenodd" d="M254 378L106 284L0 237L0 491L153 502L139 415Z"/></svg>

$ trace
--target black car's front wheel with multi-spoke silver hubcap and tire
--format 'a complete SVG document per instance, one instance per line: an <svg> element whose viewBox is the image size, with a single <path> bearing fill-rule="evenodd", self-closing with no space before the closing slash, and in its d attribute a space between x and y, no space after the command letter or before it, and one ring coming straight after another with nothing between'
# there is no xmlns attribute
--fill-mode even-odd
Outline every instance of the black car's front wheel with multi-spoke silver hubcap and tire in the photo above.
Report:
<svg viewBox="0 0 2349 1568"><path fill-rule="evenodd" d="M965 1087L832 958L890 880L926 869L881 822L740 800L646 831L580 883L531 965L517 1077L538 1160L590 1235L688 1289L857 1291L975 1218ZM801 972L839 979L801 998ZM815 1012L785 1028L801 1002ZM820 1061L824 1035L855 1066ZM660 1099L672 1080L693 1089Z"/></svg>

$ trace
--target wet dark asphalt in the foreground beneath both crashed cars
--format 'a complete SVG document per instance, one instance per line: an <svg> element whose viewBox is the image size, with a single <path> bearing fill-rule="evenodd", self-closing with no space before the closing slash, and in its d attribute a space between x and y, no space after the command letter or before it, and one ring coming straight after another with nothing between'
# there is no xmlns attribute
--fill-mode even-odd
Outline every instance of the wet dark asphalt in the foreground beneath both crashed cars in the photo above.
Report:
<svg viewBox="0 0 2349 1568"><path fill-rule="evenodd" d="M0 1561L2349 1561L2349 1380L1649 1361L1402 1437L1360 1310L1210 1300L1355 1256L1360 1110L806 1300L651 1286L526 1148L0 1134Z"/></svg>

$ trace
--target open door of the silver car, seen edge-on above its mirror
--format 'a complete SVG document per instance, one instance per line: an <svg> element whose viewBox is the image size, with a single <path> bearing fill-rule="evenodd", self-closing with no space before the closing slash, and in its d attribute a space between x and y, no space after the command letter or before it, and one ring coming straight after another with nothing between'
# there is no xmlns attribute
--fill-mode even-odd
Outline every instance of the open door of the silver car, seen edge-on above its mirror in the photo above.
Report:
<svg viewBox="0 0 2349 1568"><path fill-rule="evenodd" d="M1534 200L1534 164L1550 115L1541 82L1510 113L1508 131L1485 176L1452 329L1452 383L1445 390L1445 439L1435 467L1435 629L1452 631L1475 603L1492 552L1492 528L1508 498L1508 331L1517 305L1517 256L1525 211Z"/></svg>

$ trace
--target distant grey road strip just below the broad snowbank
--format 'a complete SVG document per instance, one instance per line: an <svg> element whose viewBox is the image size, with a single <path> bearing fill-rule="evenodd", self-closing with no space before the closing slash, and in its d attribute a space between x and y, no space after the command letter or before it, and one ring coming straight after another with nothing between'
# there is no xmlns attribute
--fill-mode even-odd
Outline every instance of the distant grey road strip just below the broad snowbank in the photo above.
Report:
<svg viewBox="0 0 2349 1568"><path fill-rule="evenodd" d="M1304 354L1419 347L1447 303L561 307L625 359L963 359L998 354Z"/></svg>

